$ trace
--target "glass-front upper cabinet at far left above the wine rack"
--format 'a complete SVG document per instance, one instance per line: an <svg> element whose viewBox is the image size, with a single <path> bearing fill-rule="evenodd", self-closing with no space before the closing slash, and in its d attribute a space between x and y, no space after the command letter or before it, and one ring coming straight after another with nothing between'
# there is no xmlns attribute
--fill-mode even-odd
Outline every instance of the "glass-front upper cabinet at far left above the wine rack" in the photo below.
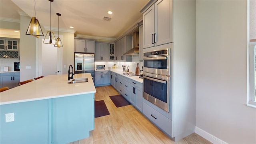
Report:
<svg viewBox="0 0 256 144"><path fill-rule="evenodd" d="M19 39L0 38L0 50L19 51Z"/></svg>

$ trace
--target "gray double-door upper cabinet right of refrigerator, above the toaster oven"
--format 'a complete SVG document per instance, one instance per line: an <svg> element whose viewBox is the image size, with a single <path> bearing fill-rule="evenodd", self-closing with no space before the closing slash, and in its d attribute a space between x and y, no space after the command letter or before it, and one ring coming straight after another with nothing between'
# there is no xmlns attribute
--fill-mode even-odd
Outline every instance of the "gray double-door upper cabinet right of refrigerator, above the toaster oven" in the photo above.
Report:
<svg viewBox="0 0 256 144"><path fill-rule="evenodd" d="M108 43L95 42L95 61L108 61L108 47Z"/></svg>

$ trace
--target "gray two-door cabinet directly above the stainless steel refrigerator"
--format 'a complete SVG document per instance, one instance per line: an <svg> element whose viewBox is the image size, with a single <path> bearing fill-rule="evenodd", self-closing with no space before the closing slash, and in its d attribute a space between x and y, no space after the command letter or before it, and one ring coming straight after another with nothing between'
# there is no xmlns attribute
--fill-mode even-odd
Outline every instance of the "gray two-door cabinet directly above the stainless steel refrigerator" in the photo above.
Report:
<svg viewBox="0 0 256 144"><path fill-rule="evenodd" d="M74 39L75 52L95 52L95 40Z"/></svg>

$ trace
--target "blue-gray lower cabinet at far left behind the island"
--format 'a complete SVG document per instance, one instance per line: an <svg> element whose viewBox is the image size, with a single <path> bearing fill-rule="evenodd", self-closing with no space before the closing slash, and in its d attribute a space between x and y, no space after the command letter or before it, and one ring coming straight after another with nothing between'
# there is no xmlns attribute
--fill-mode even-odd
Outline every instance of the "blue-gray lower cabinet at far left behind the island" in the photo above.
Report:
<svg viewBox="0 0 256 144"><path fill-rule="evenodd" d="M0 74L0 87L14 88L20 82L20 72L4 72Z"/></svg>

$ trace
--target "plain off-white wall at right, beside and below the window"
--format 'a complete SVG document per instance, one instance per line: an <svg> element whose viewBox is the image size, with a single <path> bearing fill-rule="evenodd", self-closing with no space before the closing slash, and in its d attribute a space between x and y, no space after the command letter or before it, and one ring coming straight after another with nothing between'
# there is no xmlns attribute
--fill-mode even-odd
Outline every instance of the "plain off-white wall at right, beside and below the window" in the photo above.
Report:
<svg viewBox="0 0 256 144"><path fill-rule="evenodd" d="M196 127L229 144L256 144L246 106L246 0L196 1Z"/></svg>

